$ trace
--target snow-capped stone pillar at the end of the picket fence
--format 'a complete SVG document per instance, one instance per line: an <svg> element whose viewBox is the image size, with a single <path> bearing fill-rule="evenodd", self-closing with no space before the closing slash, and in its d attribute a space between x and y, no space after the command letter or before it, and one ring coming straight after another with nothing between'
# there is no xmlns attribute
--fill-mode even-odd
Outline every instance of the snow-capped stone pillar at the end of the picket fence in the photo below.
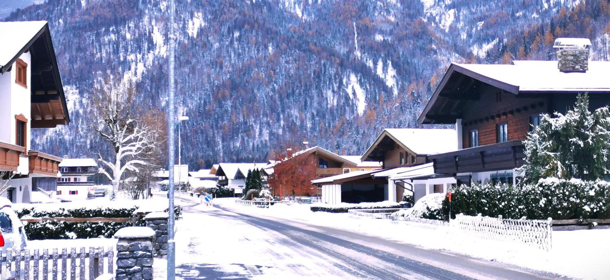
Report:
<svg viewBox="0 0 610 280"><path fill-rule="evenodd" d="M152 279L152 238L146 226L127 226L115 233L117 242L117 280Z"/></svg>

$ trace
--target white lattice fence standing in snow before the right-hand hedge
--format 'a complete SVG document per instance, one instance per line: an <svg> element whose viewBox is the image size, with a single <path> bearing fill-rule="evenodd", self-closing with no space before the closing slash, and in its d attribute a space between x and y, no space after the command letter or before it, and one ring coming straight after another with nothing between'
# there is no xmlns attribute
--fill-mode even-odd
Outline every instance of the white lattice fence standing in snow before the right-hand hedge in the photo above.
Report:
<svg viewBox="0 0 610 280"><path fill-rule="evenodd" d="M513 220L478 216L456 215L450 226L458 229L465 237L474 237L496 242L551 250L553 220Z"/></svg>

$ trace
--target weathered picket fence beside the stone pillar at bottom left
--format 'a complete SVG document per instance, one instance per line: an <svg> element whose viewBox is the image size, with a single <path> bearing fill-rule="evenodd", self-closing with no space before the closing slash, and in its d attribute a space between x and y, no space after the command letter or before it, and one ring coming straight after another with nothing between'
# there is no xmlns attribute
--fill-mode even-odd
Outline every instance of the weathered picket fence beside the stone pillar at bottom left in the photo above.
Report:
<svg viewBox="0 0 610 280"><path fill-rule="evenodd" d="M104 271L104 263L107 264ZM50 266L50 267L49 267ZM62 248L2 252L1 279L93 280L104 273L114 274L114 250L108 247ZM69 275L69 276L68 276ZM31 276L31 277L30 277Z"/></svg>

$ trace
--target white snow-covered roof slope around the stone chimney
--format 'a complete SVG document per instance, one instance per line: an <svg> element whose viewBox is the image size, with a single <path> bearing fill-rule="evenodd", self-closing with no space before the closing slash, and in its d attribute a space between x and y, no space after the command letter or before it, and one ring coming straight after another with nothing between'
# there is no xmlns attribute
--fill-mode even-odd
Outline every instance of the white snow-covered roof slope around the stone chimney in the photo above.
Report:
<svg viewBox="0 0 610 280"><path fill-rule="evenodd" d="M505 64L453 63L467 71L515 86L518 92L610 91L610 61L589 61L586 72L561 72L557 61L517 60ZM459 72L460 69L458 69ZM485 82L485 81L483 81Z"/></svg>

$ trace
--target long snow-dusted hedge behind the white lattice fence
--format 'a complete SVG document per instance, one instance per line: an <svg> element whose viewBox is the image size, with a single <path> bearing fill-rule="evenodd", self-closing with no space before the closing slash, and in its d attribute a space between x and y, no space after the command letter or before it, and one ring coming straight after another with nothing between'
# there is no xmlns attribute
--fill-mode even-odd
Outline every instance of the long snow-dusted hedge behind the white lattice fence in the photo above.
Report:
<svg viewBox="0 0 610 280"><path fill-rule="evenodd" d="M547 178L537 184L462 185L451 189L452 214L482 214L507 219L609 219L610 183ZM448 213L448 201L443 201Z"/></svg>

